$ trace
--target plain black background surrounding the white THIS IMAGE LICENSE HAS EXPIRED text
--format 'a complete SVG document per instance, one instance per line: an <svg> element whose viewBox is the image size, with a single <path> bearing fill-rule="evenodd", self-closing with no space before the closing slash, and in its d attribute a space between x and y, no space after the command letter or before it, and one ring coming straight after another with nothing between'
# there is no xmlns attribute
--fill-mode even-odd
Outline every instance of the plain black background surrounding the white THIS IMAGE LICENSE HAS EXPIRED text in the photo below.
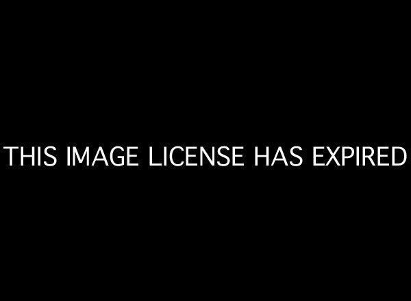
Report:
<svg viewBox="0 0 411 301"><path fill-rule="evenodd" d="M310 149L409 151L406 20L369 8L170 9L10 16L1 146L244 145L247 167L3 164L8 283L211 296L401 286L409 163L313 168ZM306 150L301 168L252 167L253 146L293 145Z"/></svg>

